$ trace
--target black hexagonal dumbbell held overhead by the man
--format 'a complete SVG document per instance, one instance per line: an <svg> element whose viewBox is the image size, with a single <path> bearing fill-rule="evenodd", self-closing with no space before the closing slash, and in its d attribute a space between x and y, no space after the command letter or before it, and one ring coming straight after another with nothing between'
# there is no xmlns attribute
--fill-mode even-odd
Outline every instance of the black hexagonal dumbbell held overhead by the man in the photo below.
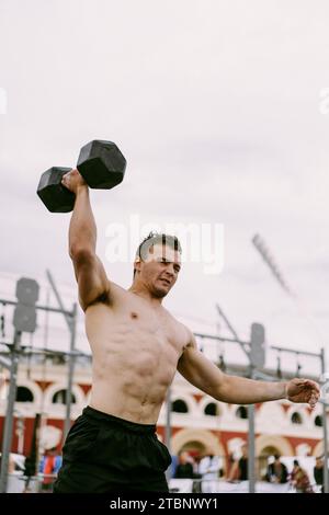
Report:
<svg viewBox="0 0 329 515"><path fill-rule="evenodd" d="M89 187L111 190L122 182L126 160L112 141L94 139L81 148L77 169ZM41 176L36 193L52 213L68 213L75 207L76 195L61 184L70 170L53 167Z"/></svg>

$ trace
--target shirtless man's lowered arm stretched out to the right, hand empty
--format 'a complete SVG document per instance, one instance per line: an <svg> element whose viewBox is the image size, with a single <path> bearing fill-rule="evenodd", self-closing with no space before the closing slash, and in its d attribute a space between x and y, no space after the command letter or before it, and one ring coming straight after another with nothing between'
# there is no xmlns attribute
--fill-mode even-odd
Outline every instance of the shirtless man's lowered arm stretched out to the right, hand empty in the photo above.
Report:
<svg viewBox="0 0 329 515"><path fill-rule="evenodd" d="M228 376L197 350L193 334L180 357L178 370L200 390L218 401L232 404L288 399L292 402L308 402L314 408L320 394L319 386L310 379L295 378L287 382L268 382Z"/></svg>

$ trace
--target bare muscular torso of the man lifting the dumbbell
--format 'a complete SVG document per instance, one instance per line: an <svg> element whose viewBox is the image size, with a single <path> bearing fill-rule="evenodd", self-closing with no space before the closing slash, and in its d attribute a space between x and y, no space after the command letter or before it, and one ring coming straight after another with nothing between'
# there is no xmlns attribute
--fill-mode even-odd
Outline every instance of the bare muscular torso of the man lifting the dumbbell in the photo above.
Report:
<svg viewBox="0 0 329 515"><path fill-rule="evenodd" d="M86 311L93 355L90 405L141 424L158 420L188 329L163 307L112 283L111 302Z"/></svg>

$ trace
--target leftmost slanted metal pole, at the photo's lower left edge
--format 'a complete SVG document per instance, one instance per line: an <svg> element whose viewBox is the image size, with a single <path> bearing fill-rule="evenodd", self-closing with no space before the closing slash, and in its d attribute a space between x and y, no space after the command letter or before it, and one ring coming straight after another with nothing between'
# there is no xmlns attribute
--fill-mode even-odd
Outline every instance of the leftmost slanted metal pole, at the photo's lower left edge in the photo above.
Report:
<svg viewBox="0 0 329 515"><path fill-rule="evenodd" d="M12 443L12 430L13 430L13 411L16 399L16 380L18 380L18 368L19 368L19 352L21 344L21 332L15 331L14 341L12 345L12 357L10 367L10 386L8 393L7 413L4 420L3 430L3 443L2 443L2 456L1 456L1 473L0 473L0 493L7 492L8 482L8 466L9 457Z"/></svg>

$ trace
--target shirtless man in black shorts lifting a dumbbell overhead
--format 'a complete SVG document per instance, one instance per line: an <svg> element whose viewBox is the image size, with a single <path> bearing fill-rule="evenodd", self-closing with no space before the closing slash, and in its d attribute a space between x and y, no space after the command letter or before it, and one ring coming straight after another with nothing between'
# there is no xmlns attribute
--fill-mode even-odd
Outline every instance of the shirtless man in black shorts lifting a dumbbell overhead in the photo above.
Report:
<svg viewBox="0 0 329 515"><path fill-rule="evenodd" d="M193 333L162 307L181 268L177 238L150 236L139 245L127 290L107 278L95 254L88 186L78 170L63 184L76 194L69 253L93 362L91 402L68 434L55 492L168 491L171 458L156 424L177 369L218 401L316 404L319 388L311 380L228 376L197 350Z"/></svg>

